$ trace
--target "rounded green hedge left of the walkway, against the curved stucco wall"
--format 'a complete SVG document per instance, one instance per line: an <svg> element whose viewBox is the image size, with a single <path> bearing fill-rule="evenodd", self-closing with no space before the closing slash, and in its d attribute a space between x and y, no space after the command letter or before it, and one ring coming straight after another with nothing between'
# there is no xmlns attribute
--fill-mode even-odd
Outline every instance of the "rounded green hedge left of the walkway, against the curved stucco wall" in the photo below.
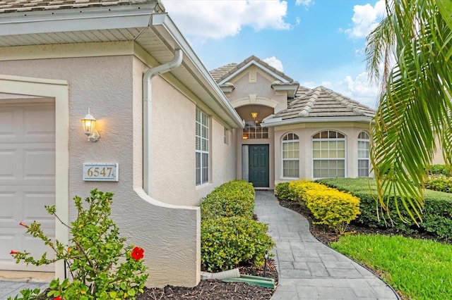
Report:
<svg viewBox="0 0 452 300"><path fill-rule="evenodd" d="M254 220L254 187L232 180L217 187L201 203L201 265L220 271L243 263L262 265L275 243L268 226Z"/></svg>

